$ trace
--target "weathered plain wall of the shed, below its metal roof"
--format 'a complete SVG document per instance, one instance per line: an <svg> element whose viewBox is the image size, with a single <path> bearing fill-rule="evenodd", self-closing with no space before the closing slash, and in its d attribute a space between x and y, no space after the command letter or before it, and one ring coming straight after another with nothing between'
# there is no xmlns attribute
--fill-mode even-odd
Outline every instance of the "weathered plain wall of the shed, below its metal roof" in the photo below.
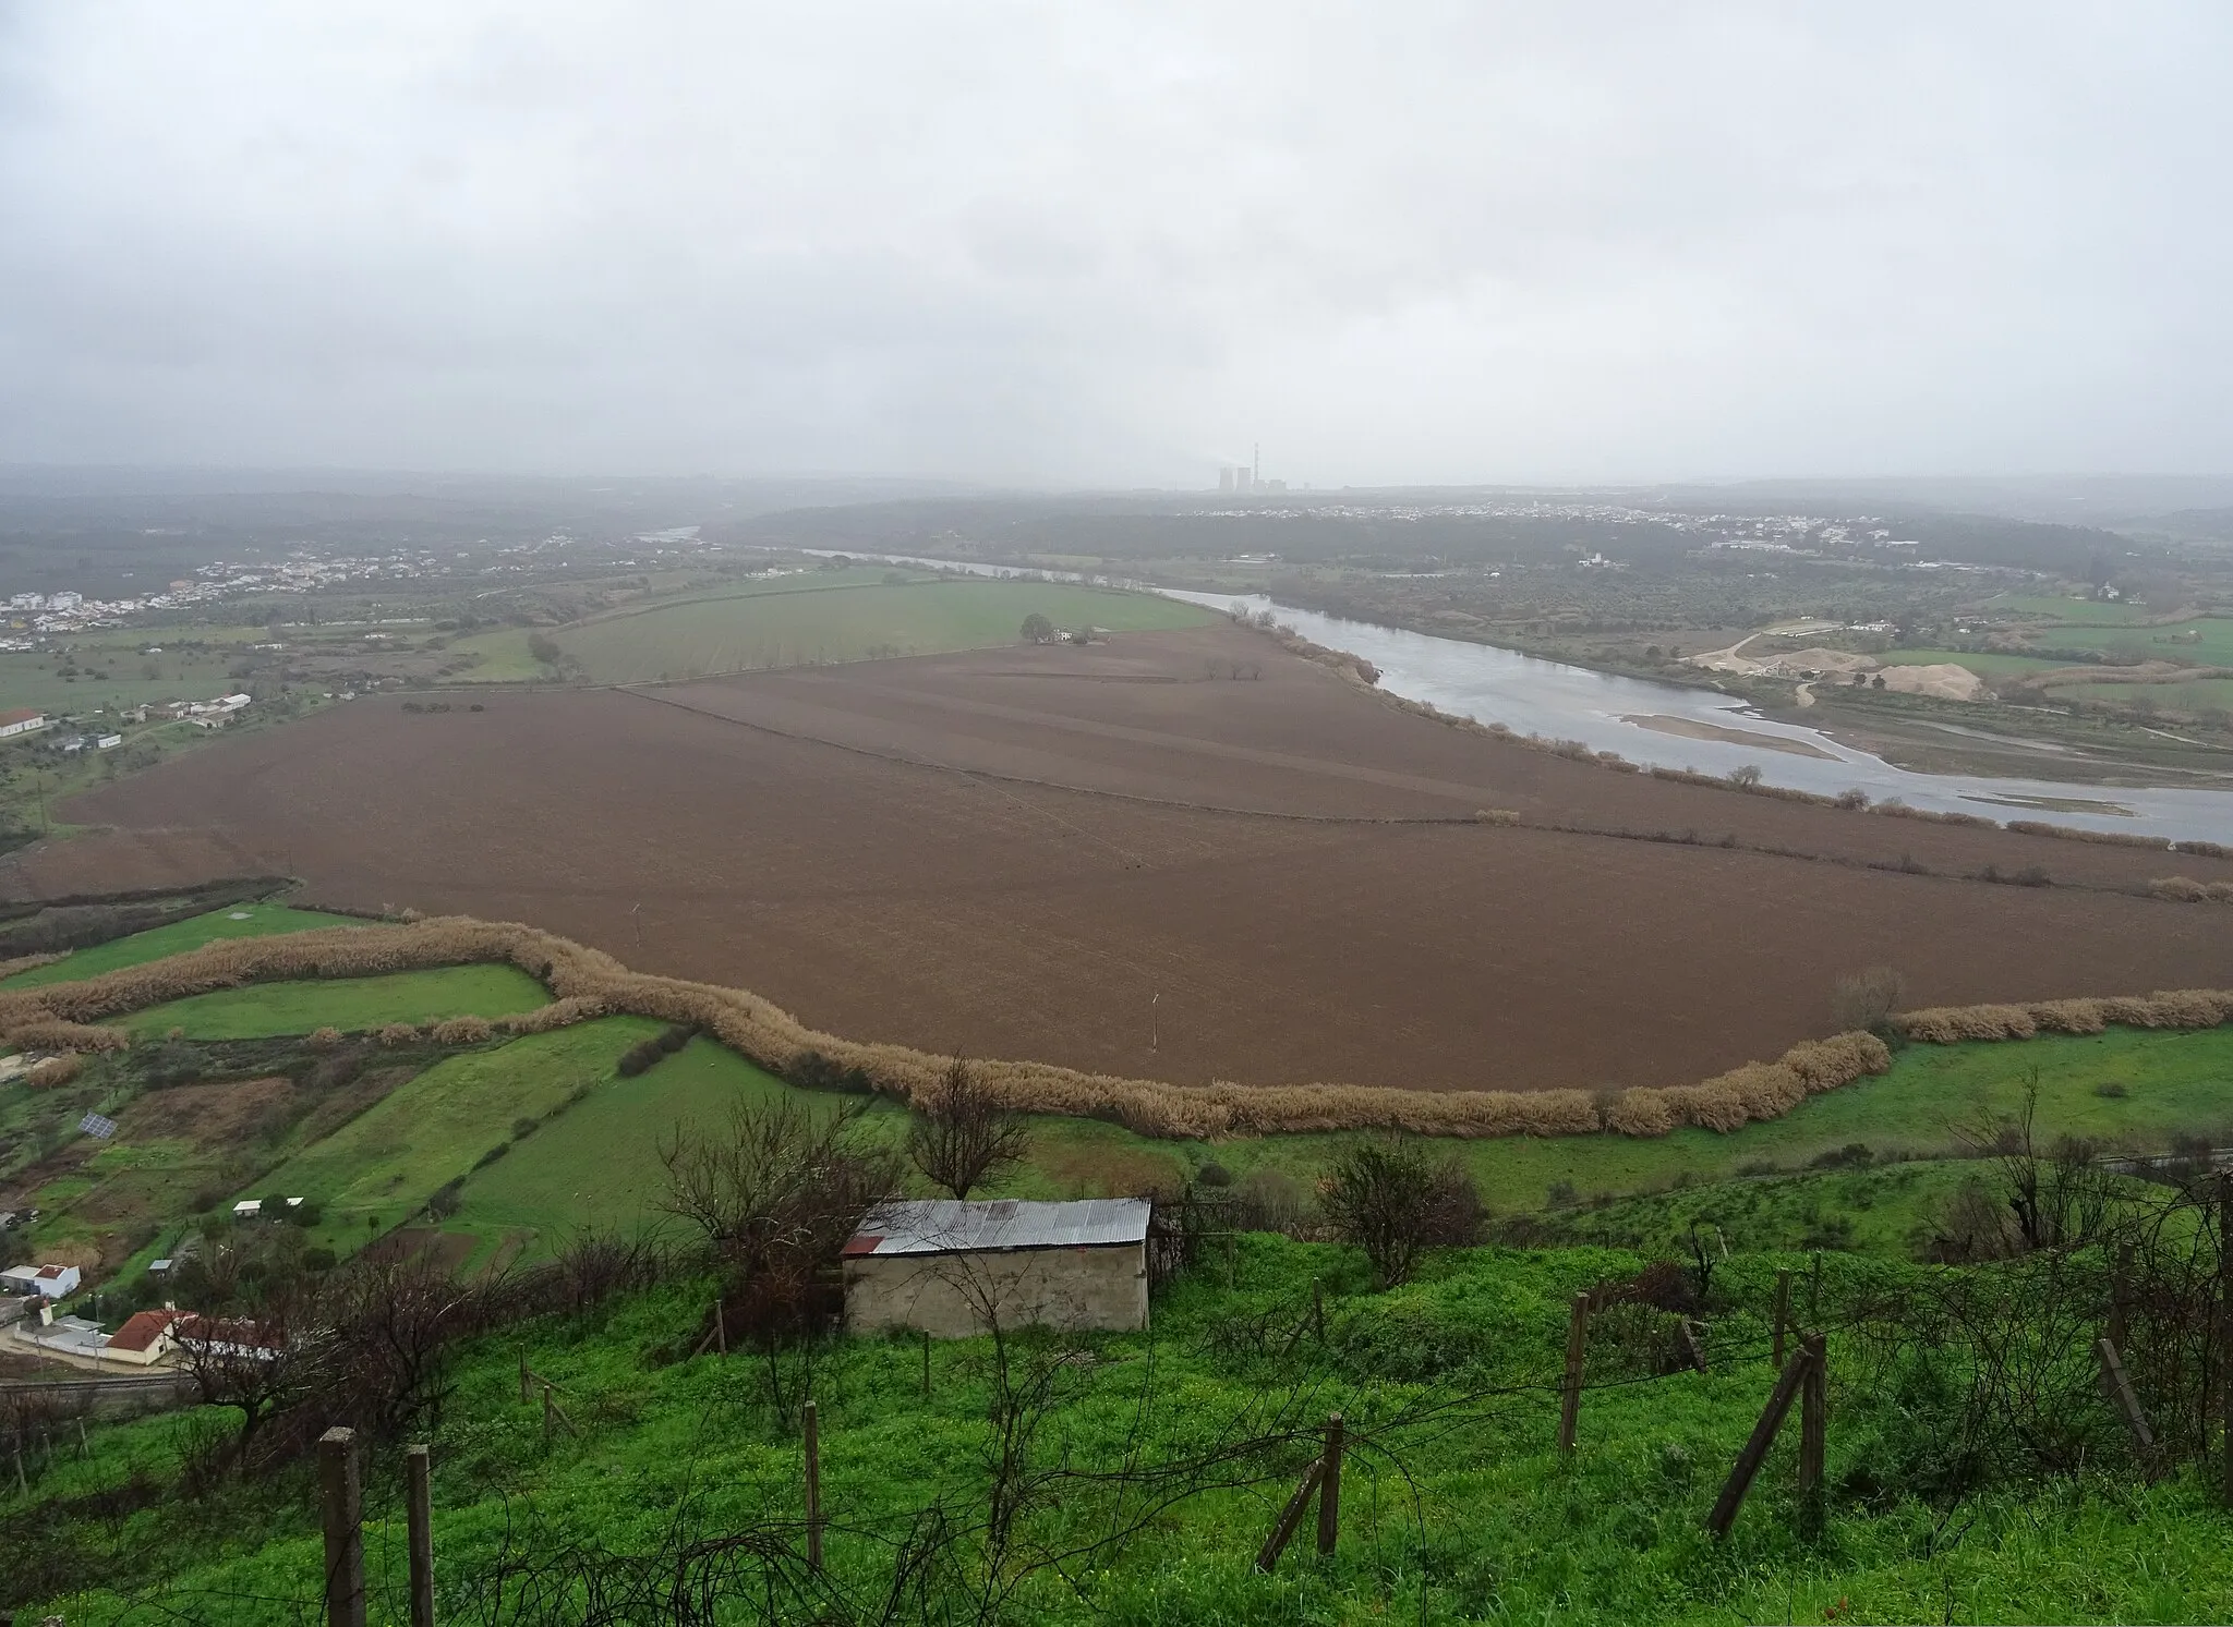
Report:
<svg viewBox="0 0 2233 1627"><path fill-rule="evenodd" d="M922 1328L938 1339L985 1332L985 1308L1003 1328L1148 1326L1148 1248L1034 1248L987 1254L860 1254L844 1272L844 1315L855 1332Z"/></svg>

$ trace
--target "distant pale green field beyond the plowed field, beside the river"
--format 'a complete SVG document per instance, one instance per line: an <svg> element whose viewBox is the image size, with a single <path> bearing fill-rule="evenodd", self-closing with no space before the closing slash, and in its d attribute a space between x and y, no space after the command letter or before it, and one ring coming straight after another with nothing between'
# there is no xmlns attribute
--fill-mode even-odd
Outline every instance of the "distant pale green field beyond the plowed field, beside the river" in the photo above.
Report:
<svg viewBox="0 0 2233 1627"><path fill-rule="evenodd" d="M594 683L652 683L748 667L920 656L1016 643L1029 614L1056 627L1201 627L1210 612L1148 594L1052 583L916 583L688 598L558 627Z"/></svg>

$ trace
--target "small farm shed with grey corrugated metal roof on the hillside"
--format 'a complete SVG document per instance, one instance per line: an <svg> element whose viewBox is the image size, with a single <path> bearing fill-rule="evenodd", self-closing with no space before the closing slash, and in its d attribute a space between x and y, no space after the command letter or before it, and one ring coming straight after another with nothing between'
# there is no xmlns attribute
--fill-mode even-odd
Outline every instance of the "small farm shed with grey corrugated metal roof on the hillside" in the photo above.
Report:
<svg viewBox="0 0 2233 1627"><path fill-rule="evenodd" d="M1152 1207L1148 1198L882 1203L844 1245L846 1326L940 1339L994 1321L1146 1328Z"/></svg>

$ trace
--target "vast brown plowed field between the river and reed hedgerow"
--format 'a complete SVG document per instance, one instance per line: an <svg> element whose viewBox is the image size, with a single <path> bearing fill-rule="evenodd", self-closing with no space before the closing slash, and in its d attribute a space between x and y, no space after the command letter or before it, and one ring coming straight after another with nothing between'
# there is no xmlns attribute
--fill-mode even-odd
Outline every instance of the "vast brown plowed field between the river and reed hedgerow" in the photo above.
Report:
<svg viewBox="0 0 2233 1627"><path fill-rule="evenodd" d="M1188 1082L1673 1085L1822 1033L1873 962L1914 1004L2233 982L2233 911L2106 890L2229 864L1612 774L1228 627L487 705L360 701L71 817L862 1040ZM1431 824L1485 806L1737 846ZM1903 855L1936 875L1865 868ZM2066 886L1958 879L1983 864Z"/></svg>

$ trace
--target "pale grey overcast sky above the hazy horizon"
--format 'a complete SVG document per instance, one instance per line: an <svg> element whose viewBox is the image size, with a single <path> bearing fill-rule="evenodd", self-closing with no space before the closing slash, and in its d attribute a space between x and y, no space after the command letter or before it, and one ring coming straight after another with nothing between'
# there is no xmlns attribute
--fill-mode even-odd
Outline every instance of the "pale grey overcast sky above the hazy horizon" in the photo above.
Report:
<svg viewBox="0 0 2233 1627"><path fill-rule="evenodd" d="M2229 47L2222 0L0 0L0 462L2229 473Z"/></svg>

